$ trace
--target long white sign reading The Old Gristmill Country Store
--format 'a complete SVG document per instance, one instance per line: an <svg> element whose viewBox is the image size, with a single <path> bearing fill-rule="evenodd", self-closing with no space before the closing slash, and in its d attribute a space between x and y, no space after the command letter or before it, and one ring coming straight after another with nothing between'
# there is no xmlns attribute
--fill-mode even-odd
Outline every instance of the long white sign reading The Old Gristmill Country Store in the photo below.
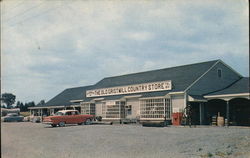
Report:
<svg viewBox="0 0 250 158"><path fill-rule="evenodd" d="M135 84L128 86L87 90L86 97L145 93L154 91L165 91L171 89L172 89L171 81L160 81L160 82L151 82L151 83Z"/></svg>

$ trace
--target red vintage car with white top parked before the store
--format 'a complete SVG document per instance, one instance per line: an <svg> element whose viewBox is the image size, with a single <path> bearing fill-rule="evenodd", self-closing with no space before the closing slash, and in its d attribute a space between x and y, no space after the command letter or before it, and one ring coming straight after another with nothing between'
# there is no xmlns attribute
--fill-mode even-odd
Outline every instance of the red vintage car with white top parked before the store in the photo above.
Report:
<svg viewBox="0 0 250 158"><path fill-rule="evenodd" d="M52 127L56 127L57 125L63 127L65 124L89 125L93 118L93 115L80 115L77 110L61 110L53 116L44 117L43 123L49 124Z"/></svg>

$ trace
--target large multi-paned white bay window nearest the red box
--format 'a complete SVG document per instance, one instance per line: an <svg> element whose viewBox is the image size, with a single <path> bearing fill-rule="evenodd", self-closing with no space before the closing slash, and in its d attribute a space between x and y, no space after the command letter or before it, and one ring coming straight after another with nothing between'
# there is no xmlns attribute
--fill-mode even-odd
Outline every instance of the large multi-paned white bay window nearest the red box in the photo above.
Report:
<svg viewBox="0 0 250 158"><path fill-rule="evenodd" d="M141 118L171 118L171 104L168 98L140 100Z"/></svg>

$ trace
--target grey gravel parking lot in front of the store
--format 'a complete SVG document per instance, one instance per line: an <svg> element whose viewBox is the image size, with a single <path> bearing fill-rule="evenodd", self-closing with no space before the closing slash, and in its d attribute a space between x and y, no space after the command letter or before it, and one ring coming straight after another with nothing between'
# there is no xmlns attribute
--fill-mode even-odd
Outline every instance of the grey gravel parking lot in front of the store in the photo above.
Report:
<svg viewBox="0 0 250 158"><path fill-rule="evenodd" d="M247 127L2 123L3 158L250 158Z"/></svg>

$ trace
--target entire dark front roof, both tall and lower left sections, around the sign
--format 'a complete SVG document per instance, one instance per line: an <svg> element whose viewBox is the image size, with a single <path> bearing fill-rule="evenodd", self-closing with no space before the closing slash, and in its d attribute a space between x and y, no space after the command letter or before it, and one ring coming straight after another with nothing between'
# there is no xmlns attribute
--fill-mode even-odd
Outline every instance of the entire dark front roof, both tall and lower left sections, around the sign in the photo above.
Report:
<svg viewBox="0 0 250 158"><path fill-rule="evenodd" d="M45 106L58 106L58 105L70 105L70 100L83 99L84 101L90 101L94 97L86 98L86 90L88 89L98 89L107 88L123 85L132 85L140 83L149 83L157 81L171 80L173 89L171 91L158 91L149 93L138 93L142 97L153 97L153 96L164 96L169 92L184 91L190 84L192 84L196 79L198 79L202 74L204 74L212 65L214 65L218 60L183 65L153 71L139 72L121 76L107 77L99 81L93 86L86 87L76 87L69 88L49 100ZM99 97L107 100L119 99L127 95L114 95ZM137 94L132 94L137 95ZM98 97L97 97L98 98Z"/></svg>

